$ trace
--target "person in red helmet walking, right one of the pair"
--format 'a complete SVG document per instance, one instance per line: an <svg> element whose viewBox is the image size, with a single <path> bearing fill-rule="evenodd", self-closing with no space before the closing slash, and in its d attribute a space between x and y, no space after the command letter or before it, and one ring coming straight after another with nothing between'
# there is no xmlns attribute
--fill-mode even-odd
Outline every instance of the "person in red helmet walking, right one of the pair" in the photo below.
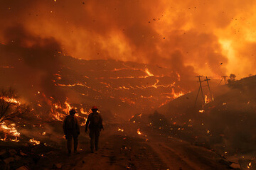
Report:
<svg viewBox="0 0 256 170"><path fill-rule="evenodd" d="M88 115L87 121L86 121L86 125L85 125L85 132L87 132L87 128L89 125L89 129L90 129L90 149L91 152L94 152L94 147L95 150L98 150L98 146L99 146L99 137L100 137L100 131L103 128L103 124L102 124L102 116L100 115L100 113L97 113L98 109L96 106L92 107L92 113L90 113L90 115Z"/></svg>

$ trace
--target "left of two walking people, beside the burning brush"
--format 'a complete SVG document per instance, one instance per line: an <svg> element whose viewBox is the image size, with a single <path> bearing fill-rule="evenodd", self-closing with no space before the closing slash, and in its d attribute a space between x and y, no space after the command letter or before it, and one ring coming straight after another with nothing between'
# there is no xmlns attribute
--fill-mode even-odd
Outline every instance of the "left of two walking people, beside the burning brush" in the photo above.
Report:
<svg viewBox="0 0 256 170"><path fill-rule="evenodd" d="M78 123L78 118L75 116L75 109L71 109L69 113L70 115L67 115L63 121L63 131L68 143L68 155L71 155L72 138L74 140L74 153L76 153L78 149L78 135L80 134L80 125Z"/></svg>

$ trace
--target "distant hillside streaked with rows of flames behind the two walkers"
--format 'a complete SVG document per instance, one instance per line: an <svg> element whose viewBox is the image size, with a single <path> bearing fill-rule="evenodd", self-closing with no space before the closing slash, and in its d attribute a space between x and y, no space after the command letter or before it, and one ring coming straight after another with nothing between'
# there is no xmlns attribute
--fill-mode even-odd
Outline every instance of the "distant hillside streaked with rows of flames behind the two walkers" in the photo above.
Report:
<svg viewBox="0 0 256 170"><path fill-rule="evenodd" d="M4 61L1 76L6 77L2 86L14 84L23 100L31 103L38 114L41 113L38 110L53 113L53 110L63 108L66 112L69 103L85 103L87 106L97 104L105 110L121 113L120 116L127 116L128 113L129 117L134 112L146 113L157 108L191 91L194 86L193 81L184 80L178 72L157 65L77 60L51 50L46 52L52 52L58 67L49 59L45 64L53 66L42 65L41 69L36 69L35 64L39 62L30 65L26 56L20 56L19 52L36 55L37 49L31 52L29 48L19 47L18 51L14 51L15 48L14 45L1 45L1 60ZM8 59L5 57L11 55ZM54 69L50 70L49 67ZM28 86L31 88L27 89Z"/></svg>

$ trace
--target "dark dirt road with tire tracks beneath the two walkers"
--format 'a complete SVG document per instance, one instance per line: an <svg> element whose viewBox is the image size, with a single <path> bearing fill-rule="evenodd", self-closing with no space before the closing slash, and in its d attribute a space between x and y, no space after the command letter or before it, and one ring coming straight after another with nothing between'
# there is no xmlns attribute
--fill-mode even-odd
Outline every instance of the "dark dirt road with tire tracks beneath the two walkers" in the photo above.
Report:
<svg viewBox="0 0 256 170"><path fill-rule="evenodd" d="M41 168L47 169L55 162L61 164L62 169L74 170L229 169L225 160L215 152L176 138L166 138L153 131L145 133L138 135L136 129L121 132L117 125L112 125L109 130L102 132L99 151L90 153L89 141L80 140L82 150L79 154L68 157L63 150L62 153L55 154L51 162L45 161L45 167Z"/></svg>

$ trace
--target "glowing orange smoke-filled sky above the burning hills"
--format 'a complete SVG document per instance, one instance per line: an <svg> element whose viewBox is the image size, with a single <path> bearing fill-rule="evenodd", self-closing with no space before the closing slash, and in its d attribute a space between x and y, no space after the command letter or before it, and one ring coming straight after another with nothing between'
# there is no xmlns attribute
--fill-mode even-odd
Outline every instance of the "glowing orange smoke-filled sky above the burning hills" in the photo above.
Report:
<svg viewBox="0 0 256 170"><path fill-rule="evenodd" d="M1 0L0 42L26 31L85 60L245 77L255 74L255 8L252 0ZM22 38L23 47L38 43Z"/></svg>

